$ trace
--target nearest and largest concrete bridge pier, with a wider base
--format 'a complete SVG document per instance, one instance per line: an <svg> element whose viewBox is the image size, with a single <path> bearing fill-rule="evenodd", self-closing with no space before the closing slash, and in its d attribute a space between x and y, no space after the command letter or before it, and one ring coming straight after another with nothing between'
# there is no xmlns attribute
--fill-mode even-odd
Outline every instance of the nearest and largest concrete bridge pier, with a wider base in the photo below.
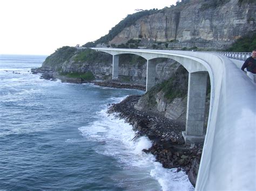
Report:
<svg viewBox="0 0 256 191"><path fill-rule="evenodd" d="M189 73L187 93L186 131L183 131L185 142L204 141L205 98L207 73Z"/></svg>

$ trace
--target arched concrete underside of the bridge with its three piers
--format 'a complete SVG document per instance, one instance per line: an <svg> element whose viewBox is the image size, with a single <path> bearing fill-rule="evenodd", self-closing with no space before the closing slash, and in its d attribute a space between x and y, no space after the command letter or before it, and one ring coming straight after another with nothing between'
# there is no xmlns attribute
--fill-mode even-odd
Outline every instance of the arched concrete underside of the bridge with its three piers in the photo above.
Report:
<svg viewBox="0 0 256 191"><path fill-rule="evenodd" d="M204 135L204 119L205 119L205 98L207 86L207 70L198 61L178 55L157 55L140 52L126 51L108 51L98 50L113 55L112 79L118 79L118 66L120 54L136 54L147 60L146 70L146 91L149 91L156 85L156 63L153 59L170 58L181 63L189 73L188 77L188 93L187 93L187 115L186 115L186 131L183 132L185 142L196 143L203 142Z"/></svg>

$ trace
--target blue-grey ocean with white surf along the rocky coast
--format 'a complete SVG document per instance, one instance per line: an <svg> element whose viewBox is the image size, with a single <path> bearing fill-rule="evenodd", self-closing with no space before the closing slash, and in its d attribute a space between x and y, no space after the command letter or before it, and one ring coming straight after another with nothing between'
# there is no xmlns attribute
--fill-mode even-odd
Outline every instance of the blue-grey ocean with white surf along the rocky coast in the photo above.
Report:
<svg viewBox="0 0 256 191"><path fill-rule="evenodd" d="M0 55L0 190L194 190L106 113L144 91L40 79L45 58Z"/></svg>

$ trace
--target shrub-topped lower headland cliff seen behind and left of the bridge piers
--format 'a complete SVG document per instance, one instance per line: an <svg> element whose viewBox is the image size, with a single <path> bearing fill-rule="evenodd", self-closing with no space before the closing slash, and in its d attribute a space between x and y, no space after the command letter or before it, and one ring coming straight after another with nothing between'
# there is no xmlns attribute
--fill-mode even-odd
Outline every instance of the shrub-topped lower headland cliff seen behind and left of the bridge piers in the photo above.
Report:
<svg viewBox="0 0 256 191"><path fill-rule="evenodd" d="M61 60L63 55L66 55L63 49L69 50L67 47L60 48L58 51L48 56L43 62L41 68L38 68L35 72L44 73L47 75L58 75L68 73L86 73L91 72L96 79L107 79L111 78L112 75L112 56L104 53L97 53L90 49L84 49L82 51L76 50L69 56L69 59ZM63 52L60 54L59 52ZM69 51L68 51L69 52ZM93 61L78 60L79 55L89 52L87 58L96 57ZM97 53L97 55L95 55ZM87 53L88 54L88 53ZM126 55L127 56L127 55ZM133 56L126 58L126 56L120 56L119 63L119 77L121 80L135 82L135 83L146 83L146 60L138 59L138 56L134 59ZM49 61L50 60L50 61ZM133 60L133 61L132 61ZM169 79L177 68L180 66L174 60L171 59L158 59L156 61L156 82L160 83L164 80ZM54 76L53 76L54 77Z"/></svg>

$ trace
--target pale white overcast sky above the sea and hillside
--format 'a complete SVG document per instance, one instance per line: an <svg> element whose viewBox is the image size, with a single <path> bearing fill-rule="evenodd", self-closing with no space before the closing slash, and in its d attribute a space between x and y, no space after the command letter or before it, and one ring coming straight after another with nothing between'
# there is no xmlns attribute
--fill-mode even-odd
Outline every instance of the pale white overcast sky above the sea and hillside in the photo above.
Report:
<svg viewBox="0 0 256 191"><path fill-rule="evenodd" d="M0 0L0 54L50 55L104 36L135 9L177 0Z"/></svg>

